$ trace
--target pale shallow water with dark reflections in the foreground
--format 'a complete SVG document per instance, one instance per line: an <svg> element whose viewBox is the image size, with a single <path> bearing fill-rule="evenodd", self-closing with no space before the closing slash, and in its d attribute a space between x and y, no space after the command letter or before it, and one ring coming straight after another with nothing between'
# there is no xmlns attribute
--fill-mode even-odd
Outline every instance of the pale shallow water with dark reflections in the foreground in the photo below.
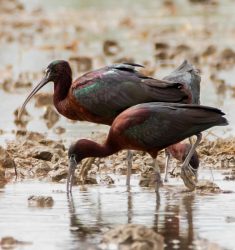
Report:
<svg viewBox="0 0 235 250"><path fill-rule="evenodd" d="M219 171L215 183L235 191L233 182L225 182ZM181 193L179 180L161 190L160 204L152 189L138 186L132 177L127 192L125 177L114 176L115 185L74 187L73 201L67 198L65 184L16 182L0 190L0 237L13 236L29 242L16 249L98 249L101 234L119 224L143 224L165 237L165 249L203 249L200 239L235 249L235 194ZM201 179L210 179L202 171ZM173 184L173 185L172 185ZM52 208L28 207L30 195L50 195Z"/></svg>

